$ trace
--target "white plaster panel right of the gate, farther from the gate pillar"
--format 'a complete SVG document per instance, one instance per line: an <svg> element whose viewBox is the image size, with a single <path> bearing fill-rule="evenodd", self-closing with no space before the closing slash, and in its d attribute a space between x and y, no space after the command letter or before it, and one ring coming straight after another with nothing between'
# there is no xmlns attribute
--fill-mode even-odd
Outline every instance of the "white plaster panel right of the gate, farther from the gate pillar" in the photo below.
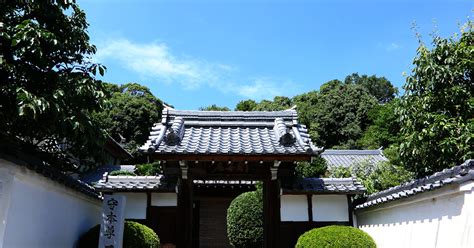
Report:
<svg viewBox="0 0 474 248"><path fill-rule="evenodd" d="M349 221L346 195L313 195L314 221Z"/></svg>

